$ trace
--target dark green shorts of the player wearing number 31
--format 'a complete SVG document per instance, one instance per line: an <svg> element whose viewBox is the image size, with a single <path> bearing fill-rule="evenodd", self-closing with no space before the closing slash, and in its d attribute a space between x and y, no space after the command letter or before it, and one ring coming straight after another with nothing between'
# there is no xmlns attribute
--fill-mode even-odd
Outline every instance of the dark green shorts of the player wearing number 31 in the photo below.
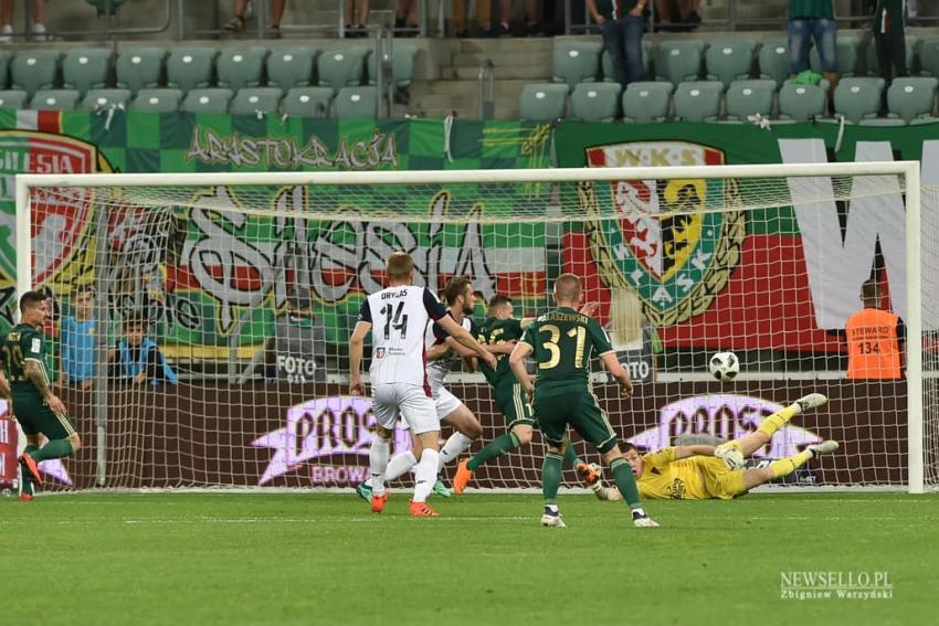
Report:
<svg viewBox="0 0 939 626"><path fill-rule="evenodd" d="M616 433L592 393L539 397L536 392L535 415L538 416L541 434L550 444L560 445L570 425L583 441L593 444L601 454L610 452L616 445Z"/></svg>

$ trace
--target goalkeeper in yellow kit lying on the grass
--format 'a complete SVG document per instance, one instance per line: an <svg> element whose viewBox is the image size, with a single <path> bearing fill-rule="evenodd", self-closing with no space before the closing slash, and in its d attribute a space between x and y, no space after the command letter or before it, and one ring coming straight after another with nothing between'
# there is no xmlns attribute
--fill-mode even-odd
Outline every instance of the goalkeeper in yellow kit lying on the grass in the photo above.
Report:
<svg viewBox="0 0 939 626"><path fill-rule="evenodd" d="M810 393L782 411L773 413L753 433L717 447L710 445L674 446L640 456L635 446L625 445L625 458L639 479L639 490L644 498L673 500L729 500L763 482L789 476L809 459L830 454L838 448L837 442L822 442L769 467L742 469L743 458L767 445L778 429L792 417L822 406L827 399L821 393Z"/></svg>

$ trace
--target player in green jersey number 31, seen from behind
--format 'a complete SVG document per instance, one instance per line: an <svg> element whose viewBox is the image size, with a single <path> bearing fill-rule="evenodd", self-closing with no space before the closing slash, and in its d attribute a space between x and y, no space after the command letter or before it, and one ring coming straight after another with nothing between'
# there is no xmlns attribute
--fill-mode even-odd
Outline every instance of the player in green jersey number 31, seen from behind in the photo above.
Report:
<svg viewBox="0 0 939 626"><path fill-rule="evenodd" d="M545 510L541 526L563 528L558 510L561 461L570 447L568 425L593 444L610 466L613 480L632 510L633 524L656 527L642 508L636 480L616 445L616 434L600 409L590 384L590 358L597 353L622 389L632 395L630 374L616 360L606 332L592 317L578 312L581 304L580 278L561 274L555 282L558 308L536 319L525 331L508 358L518 384L535 399L535 415L547 442L548 453L541 466L541 492ZM531 354L538 363L535 384L528 378L525 359Z"/></svg>

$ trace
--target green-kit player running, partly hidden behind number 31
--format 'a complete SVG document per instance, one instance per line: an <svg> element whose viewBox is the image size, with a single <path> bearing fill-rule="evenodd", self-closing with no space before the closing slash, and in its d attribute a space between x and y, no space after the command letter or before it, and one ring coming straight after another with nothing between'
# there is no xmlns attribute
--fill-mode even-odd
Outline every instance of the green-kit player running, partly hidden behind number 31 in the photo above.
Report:
<svg viewBox="0 0 939 626"><path fill-rule="evenodd" d="M593 309L592 306L590 308ZM537 425L531 404L525 396L523 386L515 380L515 375L508 367L507 358L507 354L521 339L525 328L531 323L531 319L515 319L513 312L511 299L502 295L493 296L489 300L486 321L483 322L477 333L483 344L488 347L494 354L497 354L497 367L490 368L483 363L479 369L486 376L486 381L492 385L496 405L505 416L507 422L506 433L489 442L472 458L460 463L456 468L456 476L453 478L453 490L456 494L463 494L473 478L473 473L481 465L530 443ZM565 446L565 460L577 470L580 478L590 486L599 498L605 499L600 475L590 465L577 457L573 446Z"/></svg>

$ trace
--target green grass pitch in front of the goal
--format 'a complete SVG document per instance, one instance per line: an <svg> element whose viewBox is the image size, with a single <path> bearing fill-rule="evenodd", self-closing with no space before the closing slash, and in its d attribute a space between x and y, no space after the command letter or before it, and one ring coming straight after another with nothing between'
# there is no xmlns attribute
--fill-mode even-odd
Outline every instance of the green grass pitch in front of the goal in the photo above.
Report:
<svg viewBox="0 0 939 626"><path fill-rule="evenodd" d="M77 494L0 499L0 624L926 624L939 497L772 494L650 502L354 495ZM783 572L886 572L889 600L781 597Z"/></svg>

